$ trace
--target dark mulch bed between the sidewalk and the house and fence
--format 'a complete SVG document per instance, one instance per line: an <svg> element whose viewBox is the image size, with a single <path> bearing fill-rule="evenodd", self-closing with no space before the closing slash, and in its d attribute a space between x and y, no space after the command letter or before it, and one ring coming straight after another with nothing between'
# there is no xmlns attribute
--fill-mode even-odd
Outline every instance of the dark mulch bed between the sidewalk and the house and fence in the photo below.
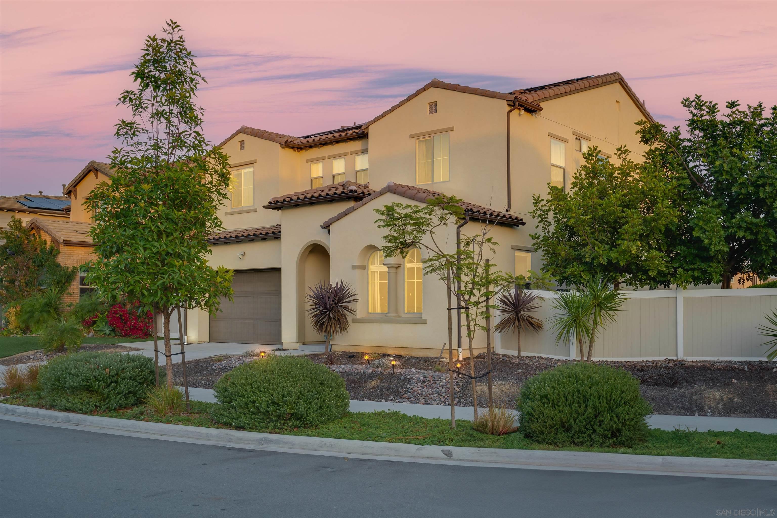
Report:
<svg viewBox="0 0 777 518"><path fill-rule="evenodd" d="M353 358L349 356L353 355ZM336 365L365 365L364 353L335 352ZM404 369L431 371L437 357L393 356ZM313 362L325 363L324 355L308 355ZM224 358L217 358L217 362ZM568 363L568 360L538 356L518 358L493 355L494 404L514 408L521 385L531 376ZM186 362L190 387L213 388L232 366L214 368L214 359ZM462 362L462 373L469 373L469 359ZM777 418L777 364L775 362L685 362L660 360L646 362L603 362L629 371L641 384L653 412L667 415L714 415L723 417ZM476 374L486 372L486 359L475 359ZM363 401L402 401L408 382L401 370L386 373L340 373L351 399ZM183 383L180 364L173 366L175 383ZM472 383L462 377L459 406L472 406ZM487 378L476 381L479 406L488 399Z"/></svg>

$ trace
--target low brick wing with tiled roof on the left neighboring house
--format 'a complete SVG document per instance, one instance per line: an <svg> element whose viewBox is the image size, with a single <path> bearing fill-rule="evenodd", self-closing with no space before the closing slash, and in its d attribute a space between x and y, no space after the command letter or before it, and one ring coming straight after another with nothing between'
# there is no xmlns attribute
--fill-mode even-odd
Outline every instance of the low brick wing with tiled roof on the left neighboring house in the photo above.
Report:
<svg viewBox="0 0 777 518"><path fill-rule="evenodd" d="M92 223L73 222L65 219L33 218L27 225L38 236L44 238L59 250L57 262L65 266L80 267L92 259L92 238L89 229ZM85 271L79 271L64 294L64 302L77 303L80 296L89 292L90 288L84 282Z"/></svg>

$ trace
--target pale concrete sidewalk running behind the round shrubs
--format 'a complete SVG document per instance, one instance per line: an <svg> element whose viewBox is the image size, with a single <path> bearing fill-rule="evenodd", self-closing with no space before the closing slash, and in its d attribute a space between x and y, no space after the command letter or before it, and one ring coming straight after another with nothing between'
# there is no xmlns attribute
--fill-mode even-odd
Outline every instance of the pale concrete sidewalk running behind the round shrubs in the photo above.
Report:
<svg viewBox="0 0 777 518"><path fill-rule="evenodd" d="M213 390L190 388L189 397L195 401L216 402ZM451 407L440 404L413 404L413 403L383 403L382 401L350 401L352 412L372 412L380 410L396 410L406 415L418 415L423 418L451 418ZM472 407L456 407L456 418L472 421L475 409ZM662 430L692 429L699 432L761 432L777 433L777 419L765 418L720 418L695 415L660 415L654 414L647 417L650 428Z"/></svg>

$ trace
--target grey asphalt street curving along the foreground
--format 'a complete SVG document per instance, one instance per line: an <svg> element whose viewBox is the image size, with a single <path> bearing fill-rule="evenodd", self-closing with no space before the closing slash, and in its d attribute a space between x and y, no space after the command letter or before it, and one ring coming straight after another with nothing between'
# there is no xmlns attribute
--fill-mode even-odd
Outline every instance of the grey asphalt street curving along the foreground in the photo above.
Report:
<svg viewBox="0 0 777 518"><path fill-rule="evenodd" d="M774 481L347 459L0 421L3 518L775 515Z"/></svg>

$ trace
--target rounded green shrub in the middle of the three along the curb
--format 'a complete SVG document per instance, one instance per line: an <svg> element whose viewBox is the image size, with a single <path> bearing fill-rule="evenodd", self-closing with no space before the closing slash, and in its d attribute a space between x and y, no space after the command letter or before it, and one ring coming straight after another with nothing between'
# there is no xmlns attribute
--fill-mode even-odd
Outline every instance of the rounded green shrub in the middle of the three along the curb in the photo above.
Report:
<svg viewBox="0 0 777 518"><path fill-rule="evenodd" d="M284 430L322 425L350 406L345 381L328 367L299 356L268 356L244 363L218 380L216 422Z"/></svg>

